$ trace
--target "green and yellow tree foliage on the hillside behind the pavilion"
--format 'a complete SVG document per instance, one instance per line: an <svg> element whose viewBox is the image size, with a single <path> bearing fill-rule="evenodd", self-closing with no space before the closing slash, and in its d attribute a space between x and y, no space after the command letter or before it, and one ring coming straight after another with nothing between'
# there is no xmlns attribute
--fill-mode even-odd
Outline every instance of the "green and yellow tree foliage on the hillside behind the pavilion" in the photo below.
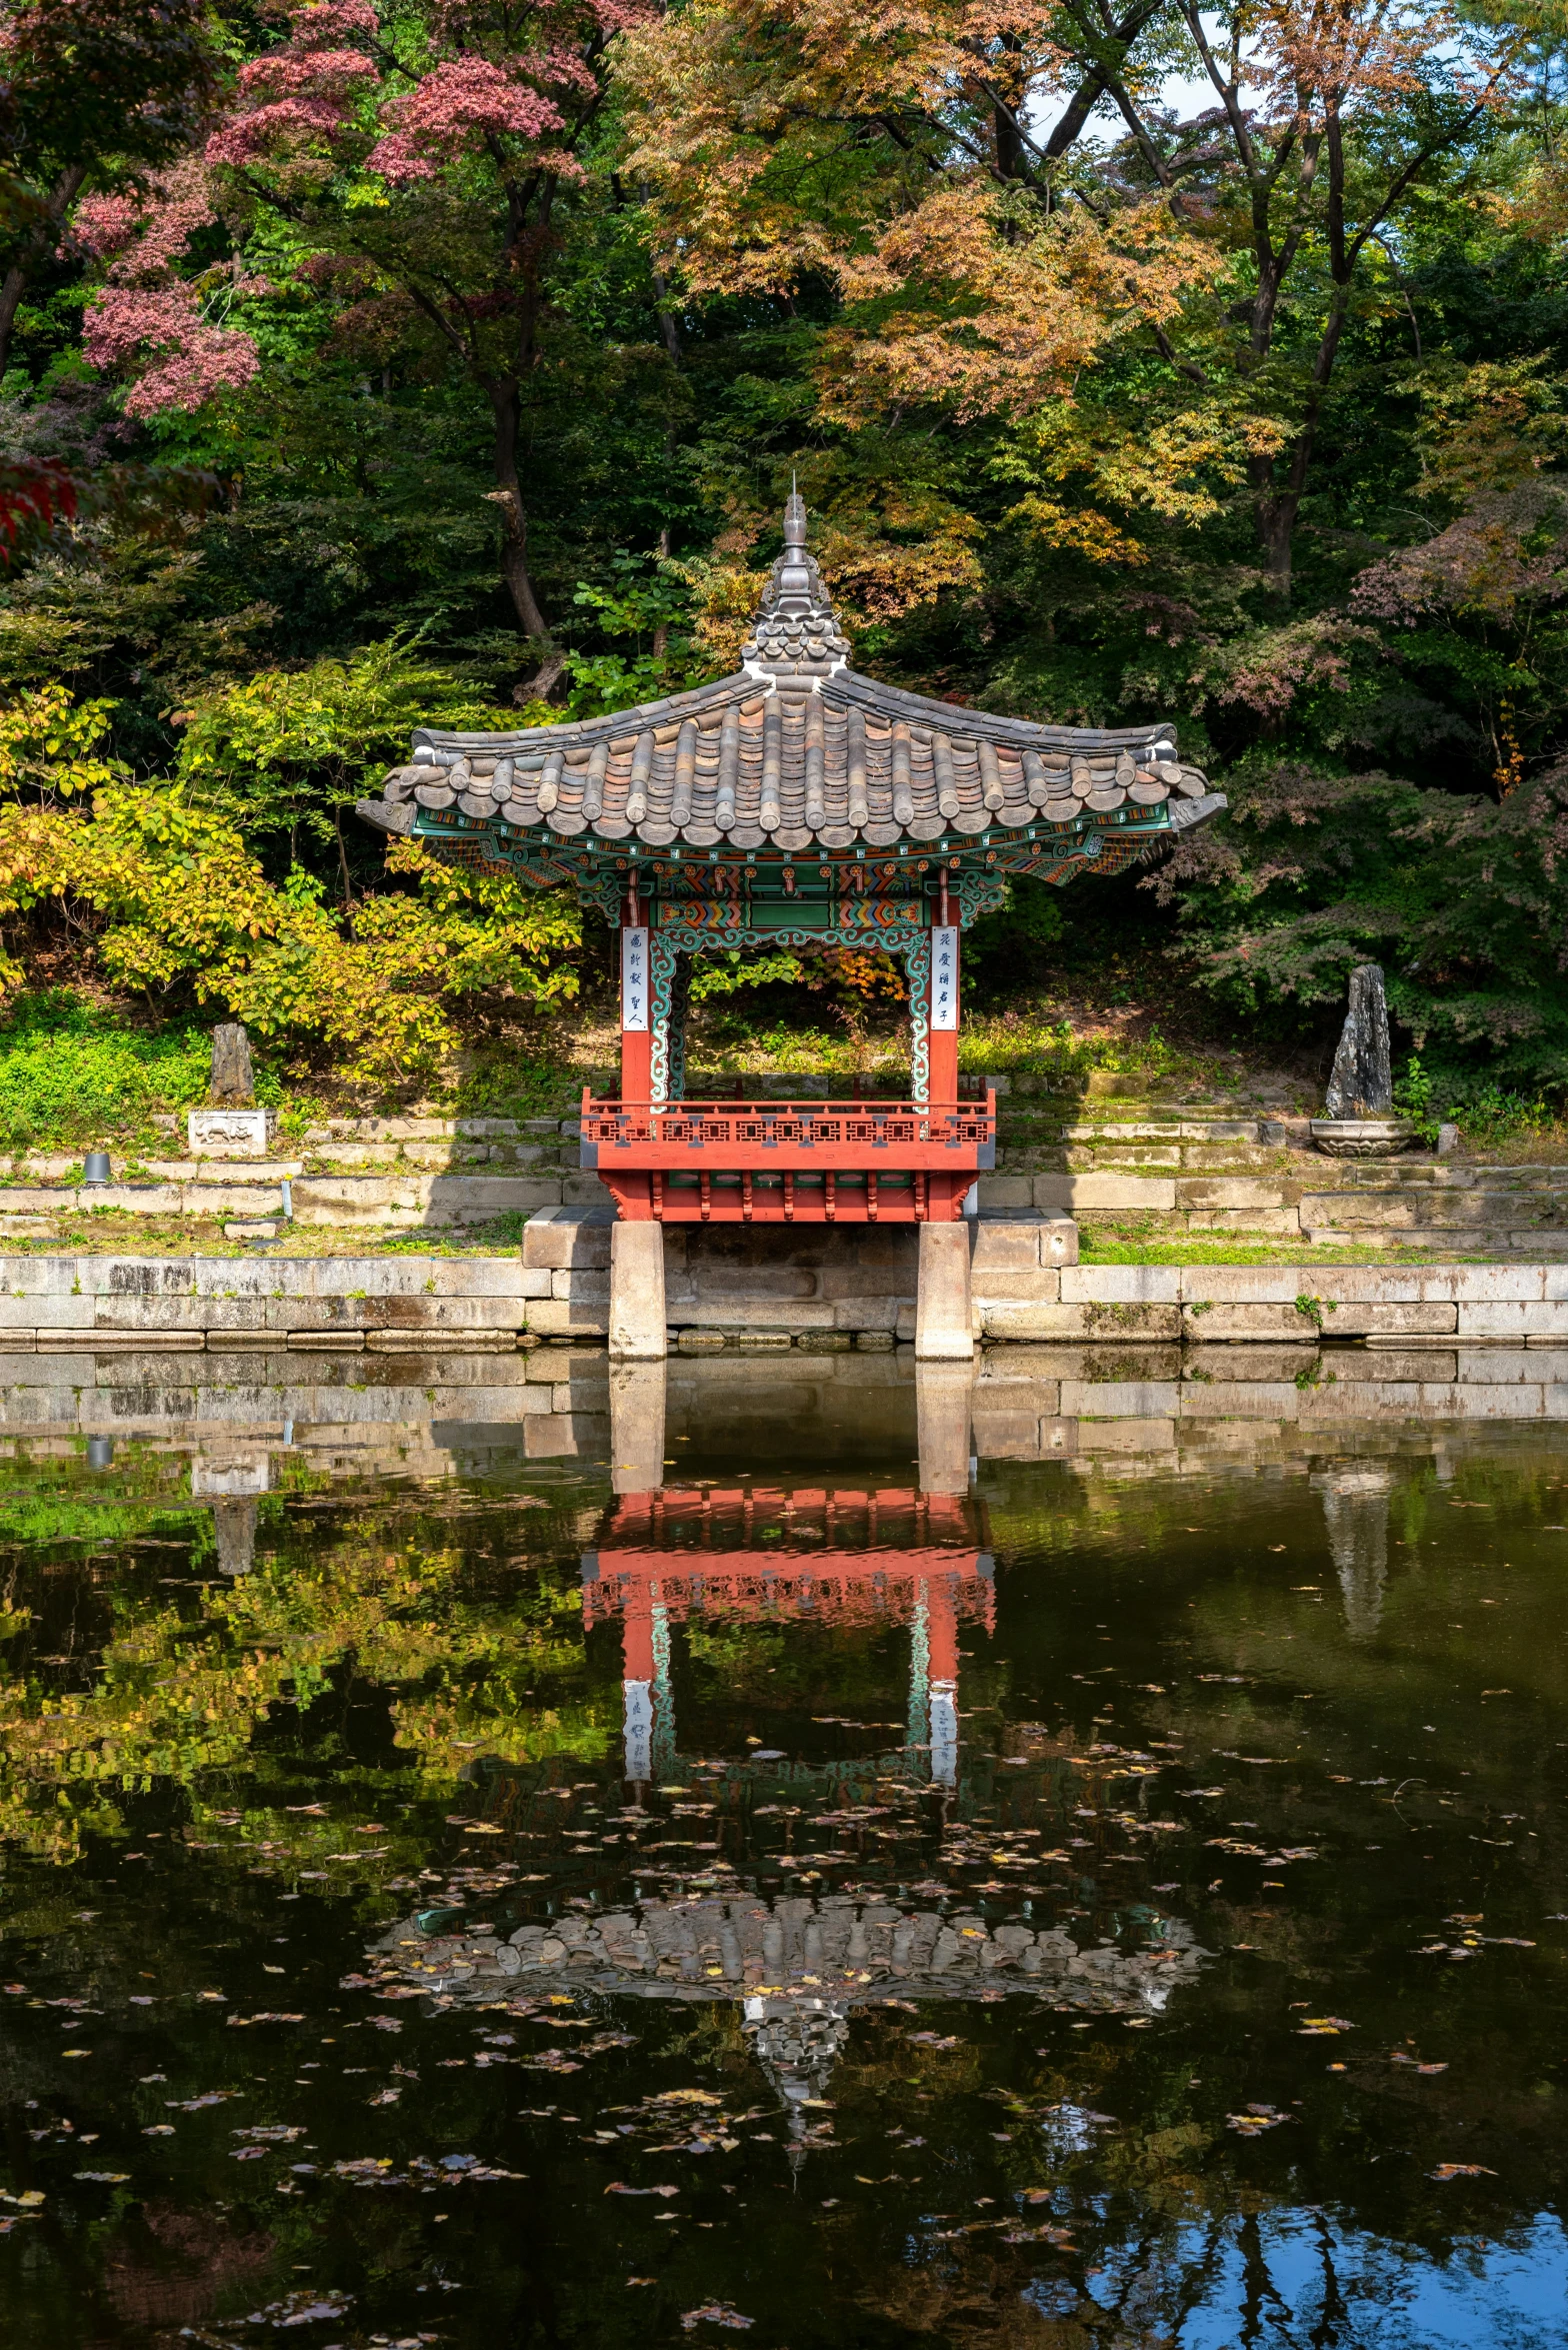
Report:
<svg viewBox="0 0 1568 2350"><path fill-rule="evenodd" d="M68 12L54 16L68 24ZM59 70L28 80L28 68L16 82L28 186L52 183L85 127L96 141L87 186L129 186L124 155L103 148L115 115L106 89L129 87L127 75L169 99L136 118L157 134L143 160L185 153L181 108L207 89L211 35L176 9L160 47L162 19L122 16L110 80L87 96L75 49ZM690 26L669 12L657 40L702 42L718 19L737 21L730 0ZM908 38L918 45L932 24L915 12ZM1009 73L1023 70L1038 31L1016 35L1023 49L1007 31ZM383 33L411 73L446 38L418 7L390 12ZM744 73L763 70L777 38L758 21L756 54L735 52ZM225 19L221 40L237 68L275 49L279 31ZM876 235L892 226L897 240L927 195L951 188L958 132L906 110L901 87L887 94L880 54L864 118L871 85L845 66L845 115L812 80L840 56L840 38L822 35L810 70L789 40L777 54L805 78L791 80L789 132L765 157L789 235L803 256L845 251L845 221L876 193ZM1054 21L1040 70L1061 73L1080 40L1073 12ZM1526 1135L1549 1114L1537 1104L1568 1086L1556 884L1568 837L1561 33L1537 26L1535 40L1542 80L1528 110L1453 113L1441 42L1420 66L1425 99L1401 89L1392 110L1366 96L1352 106L1352 209L1394 188L1392 157L1415 164L1420 150L1418 169L1359 242L1343 310L1326 176L1298 190L1305 228L1277 237L1293 261L1263 364L1251 197L1223 129L1148 118L1143 143L1082 139L1045 167L976 94L948 92L960 143L974 141L986 176L995 167L1007 183L1014 223L1033 221L1047 179L1073 190L1061 219L1082 197L1084 216L1127 221L1124 207L1155 195L1153 157L1164 155L1216 263L1183 280L1160 331L1127 313L1059 374L1035 367L1040 322L1014 306L1016 364L1000 369L998 400L967 407L937 376L969 364L960 345L965 334L984 343L974 324L958 343L939 334L920 345L932 364L915 369L908 397L857 404L845 392L864 388L866 352L892 350L885 336L901 315L892 280L883 296L864 275L869 247L857 249L859 289L817 266L789 296L765 273L742 270L730 291L702 298L671 282L674 261L653 258L653 207L699 202L699 190L690 176L674 193L646 188L627 167L648 122L631 122L624 87L580 89L582 169L547 174L549 197L533 179L498 179L495 155L477 148L453 148L439 183L392 188L364 169L352 125L336 164L296 160L298 181L282 160L254 167L171 268L211 296L214 317L254 336L258 371L207 407L150 421L127 416L124 385L82 357L101 266L59 223L33 237L19 216L7 261L21 240L26 298L0 385L0 468L49 461L89 482L124 454L148 482L148 461L178 461L209 491L160 512L153 498L82 501L73 526L0 576L7 982L68 945L176 1032L197 1006L244 1006L277 1053L383 1086L451 1062L458 1020L479 1006L509 1018L563 1001L580 959L570 909L439 884L397 858L387 867L350 804L406 754L420 721L540 724L563 705L596 714L730 667L798 470L861 667L955 705L1052 721L1174 719L1183 752L1232 804L1164 879L1145 877L1164 898L1141 900L1143 914L1134 877L1084 877L1070 895L1014 884L1007 907L967 935L976 1018L965 1067L1028 1067L1068 1090L1094 1067L1167 1074L1169 1048L1075 1041L1028 1013L1005 1025L1023 989L1063 971L1094 961L1108 978L1115 942L1153 919L1253 1034L1329 1020L1350 966L1376 956L1401 1048L1434 1088L1411 1097L1422 1130L1448 1109L1469 1135ZM594 73L615 56L615 42L596 47ZM1124 61L1134 115L1171 61L1190 63L1190 31L1157 7ZM728 122L735 92L702 87L718 106L711 120ZM683 125L688 113L664 129ZM744 129L735 153L697 155L692 169L723 174L749 139ZM796 141L817 155L803 176L789 162ZM1286 172L1270 204L1293 186ZM763 226L763 242L782 233ZM986 254L1005 273L1026 249ZM965 254L951 249L960 310ZM904 268L892 249L883 261L894 277ZM937 310L941 284L937 270ZM981 310L991 301L984 287L974 298ZM1338 343L1319 404L1307 381L1331 310ZM512 435L516 512L498 489L498 418ZM1282 505L1291 451L1293 519ZM1270 552L1261 536L1268 524L1279 540L1282 517L1284 566L1282 545ZM533 698L542 639L502 576L523 543L547 639L566 660L552 703ZM127 787L153 790L134 799ZM94 797L103 837L92 855L28 830L33 815ZM167 801L162 815L155 801ZM782 1067L876 1060L840 1020L803 1034L805 973L784 954L704 961L695 996L709 1036L744 1036L749 1060ZM791 992L789 1020L770 987ZM1103 992L1115 1001L1113 980ZM852 994L838 994L859 1018ZM519 1072L474 1074L467 1102L552 1114L556 1081L530 1048L519 1048Z"/></svg>

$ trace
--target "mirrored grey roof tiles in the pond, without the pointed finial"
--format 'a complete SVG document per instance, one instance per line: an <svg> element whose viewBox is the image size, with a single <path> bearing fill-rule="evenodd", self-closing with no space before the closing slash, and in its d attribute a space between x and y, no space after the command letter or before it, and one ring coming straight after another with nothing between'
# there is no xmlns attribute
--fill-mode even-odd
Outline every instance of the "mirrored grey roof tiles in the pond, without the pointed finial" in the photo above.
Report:
<svg viewBox="0 0 1568 2350"><path fill-rule="evenodd" d="M1167 1939L1145 1950L1115 1943L1080 1950L1061 1927L988 1927L974 1911L906 1911L852 1894L772 1904L735 1894L554 1918L519 1927L509 1941L420 1936L418 1925L394 1925L371 1958L376 1981L432 1993L493 1995L512 1976L530 1990L669 2000L800 1995L852 2007L911 1993L1035 1990L1094 2014L1155 2014L1197 1974L1204 1953L1185 1925L1167 1925Z"/></svg>

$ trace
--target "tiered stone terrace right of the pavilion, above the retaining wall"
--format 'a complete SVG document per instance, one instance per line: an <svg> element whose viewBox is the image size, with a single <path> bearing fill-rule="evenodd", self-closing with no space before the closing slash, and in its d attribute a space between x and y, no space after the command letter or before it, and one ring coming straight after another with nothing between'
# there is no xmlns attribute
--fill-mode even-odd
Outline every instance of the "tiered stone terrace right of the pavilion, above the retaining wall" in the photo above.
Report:
<svg viewBox="0 0 1568 2350"><path fill-rule="evenodd" d="M1141 1238L1261 1234L1474 1253L1568 1255L1568 1166L1326 1159L1307 1119L1223 1100L998 1102L981 1206L1045 1208Z"/></svg>

